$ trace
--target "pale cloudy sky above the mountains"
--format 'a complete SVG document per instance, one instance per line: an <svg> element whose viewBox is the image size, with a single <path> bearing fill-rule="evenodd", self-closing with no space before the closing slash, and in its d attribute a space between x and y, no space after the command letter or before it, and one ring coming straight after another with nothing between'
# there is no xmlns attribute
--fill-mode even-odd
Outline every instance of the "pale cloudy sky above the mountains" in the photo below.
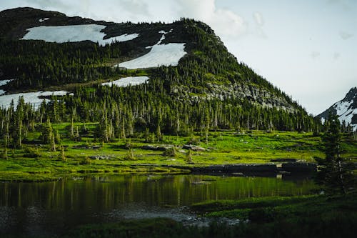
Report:
<svg viewBox="0 0 357 238"><path fill-rule="evenodd" d="M0 0L105 21L211 26L238 61L316 115L357 86L356 0Z"/></svg>

